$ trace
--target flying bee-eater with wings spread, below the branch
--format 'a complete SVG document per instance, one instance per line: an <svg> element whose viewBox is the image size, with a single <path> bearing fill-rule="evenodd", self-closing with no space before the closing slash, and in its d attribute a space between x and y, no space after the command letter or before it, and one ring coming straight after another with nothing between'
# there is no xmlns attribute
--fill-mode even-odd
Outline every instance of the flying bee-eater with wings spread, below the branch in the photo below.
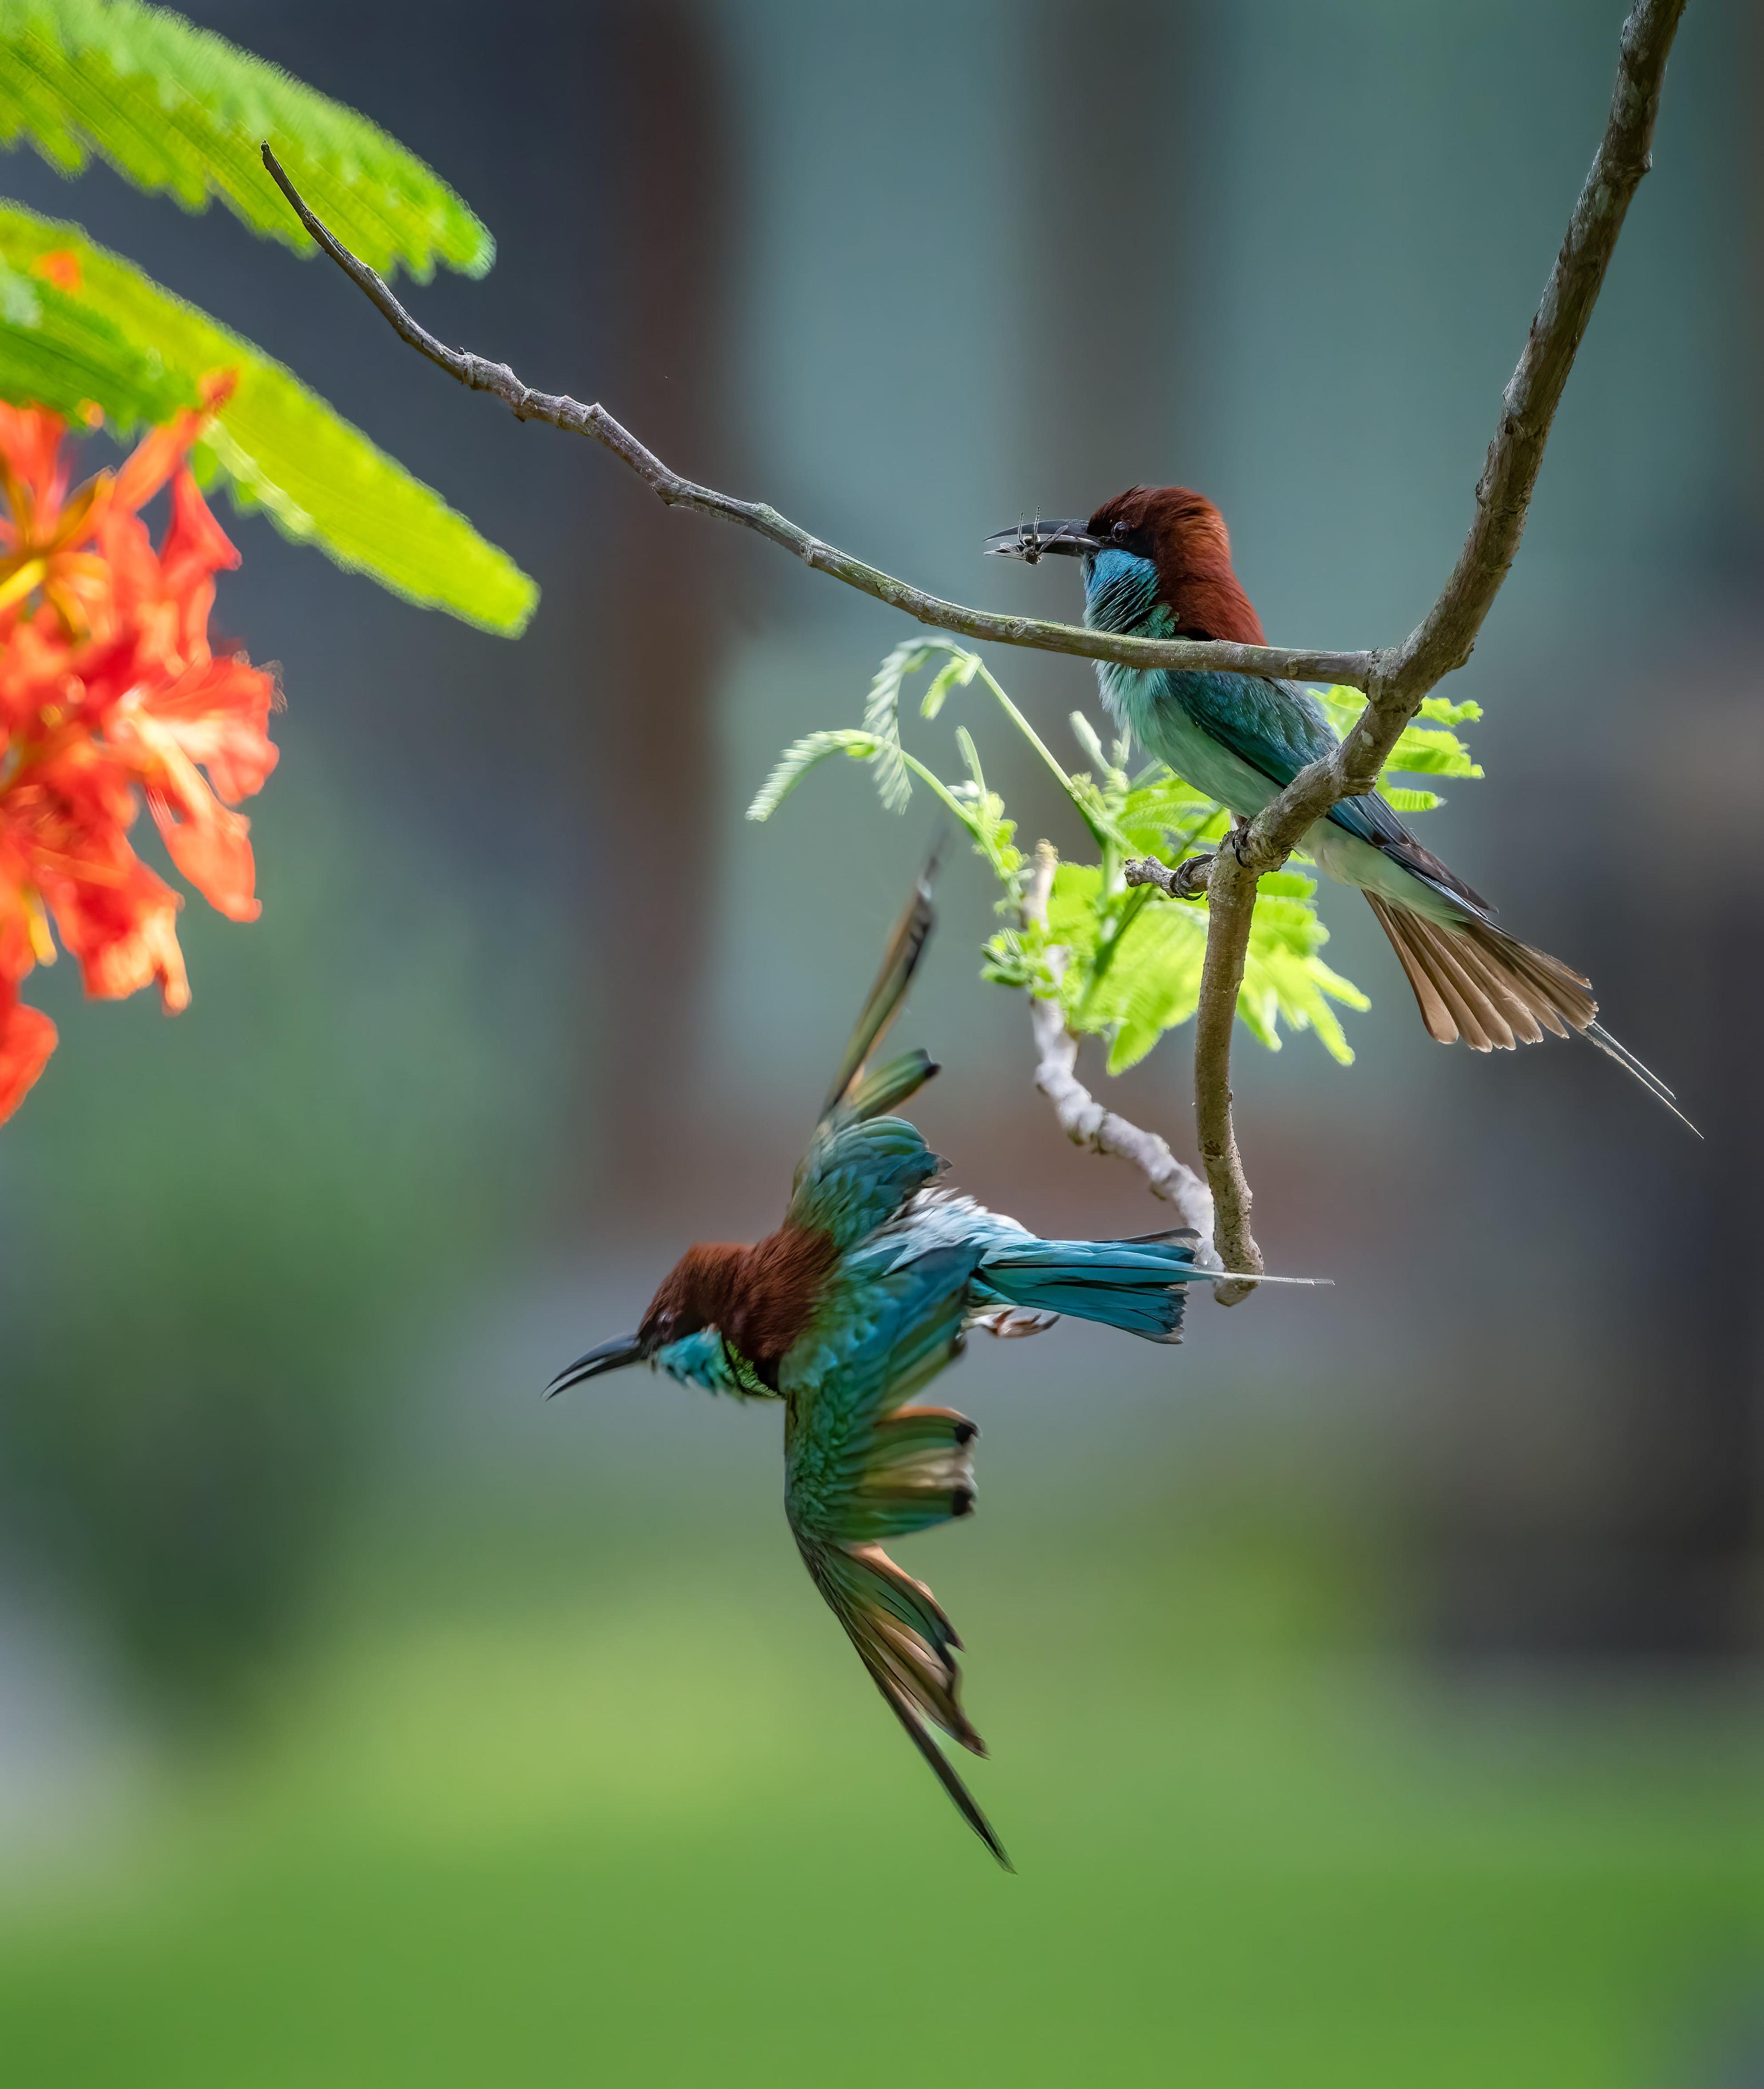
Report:
<svg viewBox="0 0 1764 2089"><path fill-rule="evenodd" d="M929 873L883 969L795 1172L777 1233L754 1247L689 1247L635 1335L578 1356L549 1391L649 1364L710 1393L781 1400L785 1515L814 1586L969 1826L998 1836L931 1738L983 1755L960 1705L956 1638L931 1590L883 1540L964 1517L975 1425L912 1404L969 1329L1033 1335L1060 1314L1177 1341L1192 1233L1040 1241L973 1197L927 1189L946 1166L893 1111L937 1067L923 1051L864 1061L906 994L931 932Z"/></svg>

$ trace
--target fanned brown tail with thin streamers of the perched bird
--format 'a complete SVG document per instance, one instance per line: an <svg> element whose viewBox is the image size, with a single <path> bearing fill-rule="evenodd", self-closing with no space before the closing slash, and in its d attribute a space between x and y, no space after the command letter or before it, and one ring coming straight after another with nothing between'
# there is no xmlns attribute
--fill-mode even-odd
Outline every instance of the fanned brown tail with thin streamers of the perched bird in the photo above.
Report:
<svg viewBox="0 0 1764 2089"><path fill-rule="evenodd" d="M1539 1044L1545 1030L1559 1038L1578 1034L1697 1132L1666 1082L1595 1022L1599 1003L1591 982L1559 957L1534 950L1493 921L1445 925L1374 892L1365 898L1390 938L1434 1042L1463 1038L1472 1051L1511 1051L1516 1044Z"/></svg>

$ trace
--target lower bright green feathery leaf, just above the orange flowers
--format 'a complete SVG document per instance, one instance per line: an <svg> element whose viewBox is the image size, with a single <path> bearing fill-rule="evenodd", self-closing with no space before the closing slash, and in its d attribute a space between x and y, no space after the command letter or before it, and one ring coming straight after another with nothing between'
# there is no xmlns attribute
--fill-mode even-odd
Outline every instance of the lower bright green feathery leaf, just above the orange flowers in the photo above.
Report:
<svg viewBox="0 0 1764 2089"><path fill-rule="evenodd" d="M372 574L424 608L449 610L486 631L511 635L526 627L539 589L507 551L486 543L466 516L290 370L163 290L132 261L106 253L79 226L0 201L0 259L27 272L48 253L73 255L79 290L61 295L33 282L44 315L77 305L140 357L157 359L169 374L167 384L182 384L175 403L192 403L196 382L209 372L236 372L234 393L196 453L198 476L223 476L234 506L261 508L286 537L319 545L338 566ZM10 338L0 343L4 353L10 347ZM44 391L29 391L29 384L21 391L21 384L25 363L15 361L0 374L0 393L56 405ZM121 382L106 389L94 380L84 397L123 426L165 418L159 405L146 405Z"/></svg>

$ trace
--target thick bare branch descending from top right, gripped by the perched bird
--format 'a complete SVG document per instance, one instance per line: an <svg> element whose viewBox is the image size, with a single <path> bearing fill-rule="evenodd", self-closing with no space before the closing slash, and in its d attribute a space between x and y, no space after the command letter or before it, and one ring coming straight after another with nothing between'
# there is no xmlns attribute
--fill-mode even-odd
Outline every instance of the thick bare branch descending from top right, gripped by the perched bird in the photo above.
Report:
<svg viewBox="0 0 1764 2089"><path fill-rule="evenodd" d="M1605 282L1630 196L1651 163L1666 56L1683 13L1685 0L1637 0L1622 27L1605 136L1568 219L1568 236L1545 284L1524 353L1501 397L1495 441L1476 483L1470 535L1438 602L1401 646L1374 656L1372 673L1357 683L1367 694L1365 710L1336 754L1303 769L1244 831L1225 842L1213 863L1207 969L1194 1032L1194 1122L1227 1268L1263 1268L1232 1126L1232 1017L1244 978L1257 882L1265 871L1280 869L1330 806L1376 788L1380 769L1422 698L1470 658L1520 547L1562 389Z"/></svg>

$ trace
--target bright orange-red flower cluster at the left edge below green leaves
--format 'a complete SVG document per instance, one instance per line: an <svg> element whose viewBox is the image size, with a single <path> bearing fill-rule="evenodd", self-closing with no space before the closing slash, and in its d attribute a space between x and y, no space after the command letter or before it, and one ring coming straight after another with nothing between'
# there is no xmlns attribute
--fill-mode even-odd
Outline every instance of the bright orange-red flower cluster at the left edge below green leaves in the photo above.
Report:
<svg viewBox="0 0 1764 2089"><path fill-rule="evenodd" d="M88 994L157 982L167 1013L190 1001L184 902L129 844L142 798L202 898L234 921L259 913L232 806L276 767L276 685L209 648L213 577L238 551L186 464L202 420L154 428L117 472L69 491L56 416L0 405L0 1122L54 1051L54 1024L19 1001L31 967L54 961L50 923ZM167 480L154 549L138 510Z"/></svg>

